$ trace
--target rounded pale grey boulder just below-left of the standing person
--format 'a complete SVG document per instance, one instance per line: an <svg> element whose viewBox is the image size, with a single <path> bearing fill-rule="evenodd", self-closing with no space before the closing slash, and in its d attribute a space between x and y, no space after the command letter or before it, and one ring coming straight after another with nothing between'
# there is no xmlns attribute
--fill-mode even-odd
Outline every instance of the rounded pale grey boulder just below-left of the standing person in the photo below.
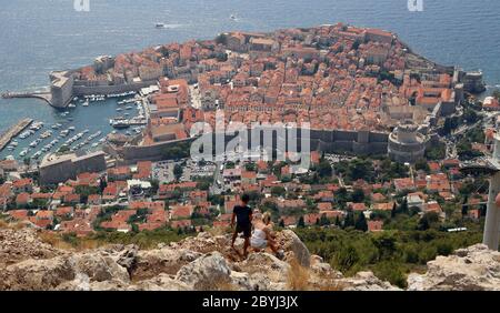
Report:
<svg viewBox="0 0 500 313"><path fill-rule="evenodd" d="M219 252L203 255L182 266L176 280L192 290L227 290L231 282L231 270Z"/></svg>

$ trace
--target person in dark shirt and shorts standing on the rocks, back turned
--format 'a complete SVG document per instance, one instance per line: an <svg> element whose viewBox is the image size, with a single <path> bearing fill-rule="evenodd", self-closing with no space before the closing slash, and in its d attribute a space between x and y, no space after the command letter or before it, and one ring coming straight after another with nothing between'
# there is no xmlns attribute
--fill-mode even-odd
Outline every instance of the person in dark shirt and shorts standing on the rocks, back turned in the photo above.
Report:
<svg viewBox="0 0 500 313"><path fill-rule="evenodd" d="M232 243L231 248L234 249L234 241L238 234L243 233L244 245L243 245L243 255L247 256L247 250L250 246L250 236L252 234L252 209L248 206L248 202L250 201L250 196L248 194L243 194L241 196L241 204L236 205L232 210L232 219L231 219L231 229L234 228L236 220L236 230L232 234ZM236 249L234 249L236 250Z"/></svg>

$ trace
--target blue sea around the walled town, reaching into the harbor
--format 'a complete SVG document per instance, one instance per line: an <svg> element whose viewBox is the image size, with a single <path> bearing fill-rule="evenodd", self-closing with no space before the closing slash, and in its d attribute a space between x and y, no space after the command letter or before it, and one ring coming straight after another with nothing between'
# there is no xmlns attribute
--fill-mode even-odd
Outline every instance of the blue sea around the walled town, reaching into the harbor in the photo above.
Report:
<svg viewBox="0 0 500 313"><path fill-rule="evenodd" d="M89 10L81 1L88 1ZM500 1L417 1L423 10L409 10L408 0L77 0L80 6L73 0L0 0L0 91L44 90L50 71L87 65L98 55L211 39L224 31L337 22L393 31L427 58L482 70L489 90L500 88ZM44 130L61 123L62 129L104 135L112 131L109 119L118 115L116 102L60 111L40 100L0 99L0 132L32 118L46 123ZM20 151L41 132L18 139L19 145L0 152L0 159L22 159Z"/></svg>

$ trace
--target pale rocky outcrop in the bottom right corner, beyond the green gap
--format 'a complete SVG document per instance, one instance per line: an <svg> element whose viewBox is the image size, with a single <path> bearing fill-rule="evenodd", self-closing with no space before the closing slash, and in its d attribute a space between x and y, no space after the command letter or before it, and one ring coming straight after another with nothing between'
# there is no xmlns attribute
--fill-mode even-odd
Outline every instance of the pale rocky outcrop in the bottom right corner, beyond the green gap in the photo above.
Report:
<svg viewBox="0 0 500 313"><path fill-rule="evenodd" d="M412 273L408 276L408 290L500 290L500 253L482 244L457 250L454 255L438 256L427 266L426 274Z"/></svg>

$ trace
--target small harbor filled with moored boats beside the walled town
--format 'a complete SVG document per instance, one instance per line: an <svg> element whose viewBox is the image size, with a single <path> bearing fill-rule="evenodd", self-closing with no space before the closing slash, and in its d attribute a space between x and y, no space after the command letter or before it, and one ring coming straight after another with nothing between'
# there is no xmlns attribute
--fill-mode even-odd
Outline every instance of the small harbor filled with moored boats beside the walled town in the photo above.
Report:
<svg viewBox="0 0 500 313"><path fill-rule="evenodd" d="M50 111L46 118L22 120L3 133L1 159L39 162L56 152L93 152L101 149L109 134L137 135L147 124L143 98L136 92L74 97L64 109L38 108Z"/></svg>

